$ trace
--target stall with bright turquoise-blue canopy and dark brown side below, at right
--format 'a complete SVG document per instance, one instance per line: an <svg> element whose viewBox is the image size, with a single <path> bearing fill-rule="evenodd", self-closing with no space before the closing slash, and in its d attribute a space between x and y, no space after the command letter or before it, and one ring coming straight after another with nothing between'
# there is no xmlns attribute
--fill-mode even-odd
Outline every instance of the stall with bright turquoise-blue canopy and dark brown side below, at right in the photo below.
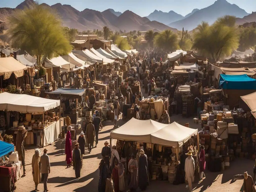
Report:
<svg viewBox="0 0 256 192"><path fill-rule="evenodd" d="M240 97L256 91L256 80L243 75L220 74L219 88L223 90L225 103L230 109L239 105Z"/></svg>

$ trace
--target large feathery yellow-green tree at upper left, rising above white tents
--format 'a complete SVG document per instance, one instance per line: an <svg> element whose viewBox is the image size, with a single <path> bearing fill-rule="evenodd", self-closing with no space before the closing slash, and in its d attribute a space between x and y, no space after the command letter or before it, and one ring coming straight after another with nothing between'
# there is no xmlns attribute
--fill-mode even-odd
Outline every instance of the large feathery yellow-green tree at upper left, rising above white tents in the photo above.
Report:
<svg viewBox="0 0 256 192"><path fill-rule="evenodd" d="M72 50L61 21L42 5L18 10L9 18L12 47L35 55L38 65L43 57L65 55Z"/></svg>

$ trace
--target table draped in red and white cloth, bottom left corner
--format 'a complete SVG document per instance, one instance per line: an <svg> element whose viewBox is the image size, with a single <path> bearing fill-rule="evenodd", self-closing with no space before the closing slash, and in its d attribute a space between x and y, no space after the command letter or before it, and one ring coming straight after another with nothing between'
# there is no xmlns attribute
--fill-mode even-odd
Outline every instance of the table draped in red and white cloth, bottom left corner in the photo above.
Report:
<svg viewBox="0 0 256 192"><path fill-rule="evenodd" d="M15 183L21 177L21 166L20 161L12 167L0 166L0 191L12 192L15 190Z"/></svg>

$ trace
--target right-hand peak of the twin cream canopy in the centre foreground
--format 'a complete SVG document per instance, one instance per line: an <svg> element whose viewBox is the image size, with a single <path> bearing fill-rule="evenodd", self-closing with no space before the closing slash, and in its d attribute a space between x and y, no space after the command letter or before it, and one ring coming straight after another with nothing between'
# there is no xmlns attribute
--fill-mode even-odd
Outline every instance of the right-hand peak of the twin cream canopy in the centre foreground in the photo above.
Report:
<svg viewBox="0 0 256 192"><path fill-rule="evenodd" d="M197 129L191 129L173 122L157 132L152 133L151 143L163 146L181 147L191 138L191 136L197 134Z"/></svg>

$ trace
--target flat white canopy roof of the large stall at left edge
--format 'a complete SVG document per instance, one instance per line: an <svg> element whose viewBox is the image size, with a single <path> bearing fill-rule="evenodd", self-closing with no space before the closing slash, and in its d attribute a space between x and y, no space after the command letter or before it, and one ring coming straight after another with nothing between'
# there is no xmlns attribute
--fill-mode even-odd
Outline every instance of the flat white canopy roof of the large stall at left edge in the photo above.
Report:
<svg viewBox="0 0 256 192"><path fill-rule="evenodd" d="M17 111L20 113L42 114L56 108L59 100L34 97L26 94L0 93L0 110Z"/></svg>

